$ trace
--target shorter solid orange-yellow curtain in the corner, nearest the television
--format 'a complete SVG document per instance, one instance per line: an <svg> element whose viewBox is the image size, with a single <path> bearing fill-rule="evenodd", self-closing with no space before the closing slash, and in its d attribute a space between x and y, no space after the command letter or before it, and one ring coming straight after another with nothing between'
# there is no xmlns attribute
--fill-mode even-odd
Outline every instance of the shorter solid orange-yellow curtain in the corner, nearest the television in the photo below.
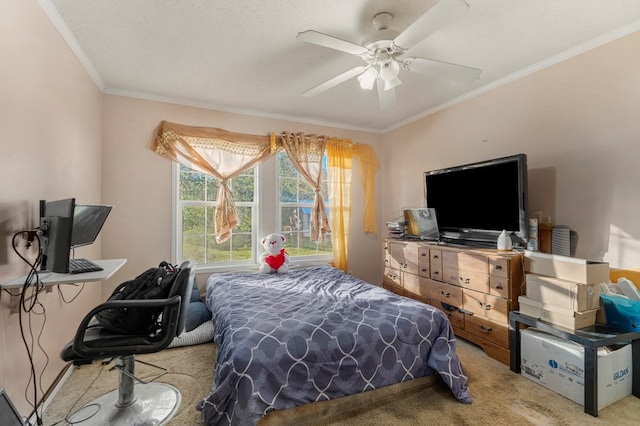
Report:
<svg viewBox="0 0 640 426"><path fill-rule="evenodd" d="M380 164L371 145L354 144L353 156L358 160L358 176L364 191L364 232L377 234L376 173Z"/></svg>

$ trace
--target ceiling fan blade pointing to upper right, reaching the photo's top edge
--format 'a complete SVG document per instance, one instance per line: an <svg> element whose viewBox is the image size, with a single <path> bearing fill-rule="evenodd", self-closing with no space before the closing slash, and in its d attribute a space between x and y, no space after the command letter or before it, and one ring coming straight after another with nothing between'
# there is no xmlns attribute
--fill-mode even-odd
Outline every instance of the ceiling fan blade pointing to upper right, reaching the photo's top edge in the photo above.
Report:
<svg viewBox="0 0 640 426"><path fill-rule="evenodd" d="M393 44L410 49L431 34L460 18L469 5L464 0L440 0L407 29L398 34Z"/></svg>

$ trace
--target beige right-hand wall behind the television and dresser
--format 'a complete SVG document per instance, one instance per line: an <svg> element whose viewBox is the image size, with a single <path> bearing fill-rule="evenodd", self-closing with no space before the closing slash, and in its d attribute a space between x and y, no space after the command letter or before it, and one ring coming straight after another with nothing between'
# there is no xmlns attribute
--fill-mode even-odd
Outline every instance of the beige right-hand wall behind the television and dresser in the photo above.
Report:
<svg viewBox="0 0 640 426"><path fill-rule="evenodd" d="M532 213L576 230L577 256L640 267L639 48L636 32L386 134L382 219L422 205L424 171L524 152Z"/></svg>

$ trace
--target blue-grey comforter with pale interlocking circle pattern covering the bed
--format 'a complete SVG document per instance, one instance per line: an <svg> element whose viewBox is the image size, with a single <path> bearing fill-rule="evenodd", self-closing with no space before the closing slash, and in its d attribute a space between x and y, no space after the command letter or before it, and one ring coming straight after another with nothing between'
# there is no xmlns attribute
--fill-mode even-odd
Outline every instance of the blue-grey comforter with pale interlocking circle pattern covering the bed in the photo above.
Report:
<svg viewBox="0 0 640 426"><path fill-rule="evenodd" d="M199 404L210 425L254 425L273 410L439 374L470 403L440 310L329 266L207 281L217 361Z"/></svg>

